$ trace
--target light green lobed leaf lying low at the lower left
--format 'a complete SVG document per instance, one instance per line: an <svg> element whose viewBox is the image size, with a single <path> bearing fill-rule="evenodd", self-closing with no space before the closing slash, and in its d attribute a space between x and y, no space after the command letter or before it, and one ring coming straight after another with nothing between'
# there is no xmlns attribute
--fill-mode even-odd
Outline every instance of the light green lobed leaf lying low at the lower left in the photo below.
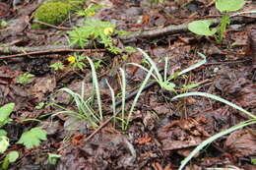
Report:
<svg viewBox="0 0 256 170"><path fill-rule="evenodd" d="M32 128L31 131L23 133L21 139L17 143L24 144L27 149L38 146L41 141L46 141L47 132L41 128Z"/></svg>

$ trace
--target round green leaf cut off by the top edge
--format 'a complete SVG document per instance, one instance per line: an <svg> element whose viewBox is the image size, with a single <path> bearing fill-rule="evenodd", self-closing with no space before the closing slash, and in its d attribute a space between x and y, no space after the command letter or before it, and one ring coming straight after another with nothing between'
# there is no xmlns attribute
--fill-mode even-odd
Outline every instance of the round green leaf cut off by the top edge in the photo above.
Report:
<svg viewBox="0 0 256 170"><path fill-rule="evenodd" d="M217 0L215 5L221 12L234 12L241 9L244 3L244 0Z"/></svg>

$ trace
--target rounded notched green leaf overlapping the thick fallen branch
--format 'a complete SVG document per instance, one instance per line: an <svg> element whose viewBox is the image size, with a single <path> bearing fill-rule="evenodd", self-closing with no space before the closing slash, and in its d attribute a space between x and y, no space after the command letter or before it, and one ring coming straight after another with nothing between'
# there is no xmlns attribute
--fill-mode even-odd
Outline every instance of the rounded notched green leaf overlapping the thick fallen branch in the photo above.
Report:
<svg viewBox="0 0 256 170"><path fill-rule="evenodd" d="M211 24L211 20L195 21L188 24L188 29L196 34L212 36L216 33L217 29L210 29Z"/></svg>

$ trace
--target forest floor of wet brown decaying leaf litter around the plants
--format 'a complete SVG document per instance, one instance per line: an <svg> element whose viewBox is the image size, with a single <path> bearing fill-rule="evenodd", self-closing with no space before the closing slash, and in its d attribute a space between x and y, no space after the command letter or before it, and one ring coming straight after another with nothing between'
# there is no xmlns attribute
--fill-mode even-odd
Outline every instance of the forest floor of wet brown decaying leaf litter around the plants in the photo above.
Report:
<svg viewBox="0 0 256 170"><path fill-rule="evenodd" d="M107 121L113 112L110 90L105 80L118 94L117 100L120 100L122 80L118 68L123 68L126 94L137 89L145 80L147 72L127 63L147 67L142 53L136 50L113 54L102 45L95 45L96 48L92 47L92 50L91 47L87 50L61 48L69 44L69 30L65 28L78 26L83 17L71 15L57 28L32 29L32 14L39 6L37 1L24 1L15 9L12 1L0 1L0 20L8 24L0 28L0 106L15 103L10 116L13 121L3 127L8 132L10 146L4 154L0 154L0 160L11 150L17 150L20 154L10 169L175 170L201 142L250 118L243 112L207 97L188 96L171 100L172 97L188 91L208 92L256 113L255 14L237 17L239 20L231 22L223 42L218 44L214 38L196 35L186 28L166 32L162 29L184 26L196 20L219 18L220 12L212 0L164 1L162 4L147 0L88 0L84 9L94 2L104 4L96 11L98 20L108 21L118 30L139 33L126 39L113 36L116 46L121 49L125 46L143 49L157 63L159 70L164 69L163 58L167 57L167 75L202 61L198 52L207 56L207 62L186 73L186 76L173 79L176 91L162 89L158 84L145 89L124 132L120 119L117 119L115 127L112 120ZM255 1L248 0L241 11L253 9L256 9ZM141 32L153 34L141 35ZM13 47L13 50L4 51L3 46ZM32 47L31 52L14 50L27 47ZM89 63L85 60L86 67L83 70L69 67L67 58L75 53L89 56L96 66L103 110L99 128L92 128L85 119L74 116L58 114L52 117L52 114L62 110L53 105L46 107L47 104L57 103L77 111L70 95L58 89L68 87L80 93L82 82L86 91L84 97L92 97L93 82ZM64 64L63 70L54 71L49 67L60 61ZM17 81L25 73L34 77L27 84L18 84ZM183 85L195 83L198 86L182 89ZM98 105L94 101L91 106L97 113ZM127 99L126 115L133 101L134 97ZM38 107L39 103L41 107ZM120 117L121 106L116 110ZM26 149L17 142L24 132L33 127L42 127L47 132L47 140L39 146ZM47 153L59 154L61 157L55 165L49 165ZM254 124L212 142L196 154L185 169L253 170L256 169L252 163L255 158Z"/></svg>

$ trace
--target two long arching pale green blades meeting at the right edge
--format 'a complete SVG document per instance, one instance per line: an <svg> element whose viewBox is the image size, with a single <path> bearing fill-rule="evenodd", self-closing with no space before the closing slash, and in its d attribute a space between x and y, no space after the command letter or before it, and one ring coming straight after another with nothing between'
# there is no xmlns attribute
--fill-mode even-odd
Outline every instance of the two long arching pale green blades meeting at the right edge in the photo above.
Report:
<svg viewBox="0 0 256 170"><path fill-rule="evenodd" d="M193 158L193 156L195 156L201 149L203 149L206 145L208 145L209 143L211 142L214 142L215 140L223 137L224 135L227 135L233 131L236 131L238 129L241 129L245 126L248 126L248 125L251 125L251 124L255 124L256 123L256 116L246 110L244 110L243 108L237 106L236 104L234 103L231 103L227 100L225 100L224 98L221 98L217 95L213 95L213 94L210 94L210 93L206 93L206 92L187 92L187 93L183 93L183 94L179 94L179 95L176 95L175 97L172 98L172 100L174 99L177 99L177 98L180 98L180 97L186 97L186 96L205 96L205 97L208 97L208 98L211 98L211 99L214 99L214 100L217 100L217 101L220 101L220 102L223 102L224 104L227 104L241 112L243 112L244 114L248 115L249 117L251 117L252 119L251 120L248 120L248 121L245 121L245 122L242 122L238 125L235 125L219 134L216 134L214 135L213 137L209 138L208 140L200 143L182 162L181 162L181 165L179 167L179 170L182 170L184 168L184 166Z"/></svg>

